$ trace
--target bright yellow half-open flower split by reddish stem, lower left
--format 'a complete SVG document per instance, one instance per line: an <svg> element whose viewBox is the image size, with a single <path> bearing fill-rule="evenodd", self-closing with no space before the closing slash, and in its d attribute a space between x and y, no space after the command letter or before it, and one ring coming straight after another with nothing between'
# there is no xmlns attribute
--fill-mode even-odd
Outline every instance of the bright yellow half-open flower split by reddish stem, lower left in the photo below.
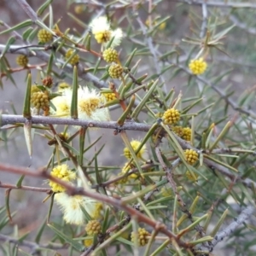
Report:
<svg viewBox="0 0 256 256"><path fill-rule="evenodd" d="M76 179L77 175L75 172L68 169L67 165L56 166L50 172L50 175L53 177L60 178L65 182L71 182ZM58 183L52 182L49 180L49 186L54 192L64 192L66 189Z"/></svg>

